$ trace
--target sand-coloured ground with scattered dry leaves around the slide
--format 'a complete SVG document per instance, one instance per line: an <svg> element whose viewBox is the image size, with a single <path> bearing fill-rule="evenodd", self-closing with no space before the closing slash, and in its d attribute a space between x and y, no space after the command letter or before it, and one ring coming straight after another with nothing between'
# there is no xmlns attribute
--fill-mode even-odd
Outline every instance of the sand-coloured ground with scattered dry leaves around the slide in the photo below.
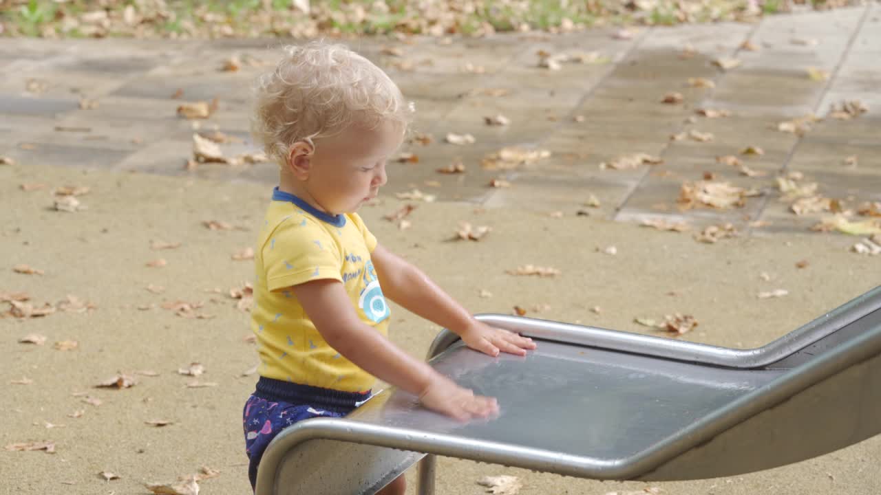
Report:
<svg viewBox="0 0 881 495"><path fill-rule="evenodd" d="M47 188L19 188L33 182ZM49 191L63 185L91 188L80 197L88 209L51 211ZM236 301L226 293L210 291L227 292L252 278L251 262L233 261L231 255L252 244L269 195L269 188L252 183L0 166L0 291L27 292L38 305L72 294L97 306L85 314L0 320L0 445L41 440L56 444L56 454L0 449L0 493L145 493L144 482L173 481L202 466L221 471L202 483L203 493L249 491L241 404L256 377L241 373L256 357L253 344L244 340L248 314L236 309ZM849 253L854 240L843 236L775 234L707 245L687 233L661 233L602 218L476 212L461 203L420 204L411 215L412 227L402 232L381 219L400 203L384 201L361 211L381 242L416 262L474 313L509 313L519 305L530 315L551 320L648 331L633 318L681 312L700 321L685 338L753 347L881 280L881 257ZM206 220L242 229L212 231L203 225ZM459 220L491 225L492 233L479 242L447 241ZM151 242L159 240L181 242L181 247L152 250ZM609 246L617 247L618 254L603 254ZM160 257L167 266L145 266ZM796 268L801 260L809 265ZM45 273L13 272L19 263ZM553 266L562 275L506 273L525 263ZM762 272L769 281L760 277ZM148 292L148 284L163 286L165 292ZM756 297L778 288L787 289L788 296ZM481 289L492 297L479 297ZM671 291L677 295L668 295ZM182 318L161 307L138 309L178 299L204 302L197 311L213 318ZM543 303L551 309L531 312ZM596 306L602 308L600 314L590 311ZM393 311L391 338L414 355L424 355L438 327L399 307ZM19 344L20 337L31 333L47 336L46 344ZM65 340L78 341L78 348L53 348L56 341ZM205 368L198 380L216 387L186 386L192 377L177 369L195 361ZM117 372L138 370L153 370L159 376L136 375L137 385L122 390L93 388ZM11 383L23 378L33 382ZM75 395L80 392L103 403L84 403L83 396ZM77 410L85 412L69 416ZM156 419L174 424L159 428L144 423ZM881 486L879 461L881 437L748 476L653 485L670 495L870 495ZM103 480L98 474L103 470L120 479ZM475 480L496 474L524 477L522 495L602 495L648 486L443 459L438 493L481 493L485 489Z"/></svg>

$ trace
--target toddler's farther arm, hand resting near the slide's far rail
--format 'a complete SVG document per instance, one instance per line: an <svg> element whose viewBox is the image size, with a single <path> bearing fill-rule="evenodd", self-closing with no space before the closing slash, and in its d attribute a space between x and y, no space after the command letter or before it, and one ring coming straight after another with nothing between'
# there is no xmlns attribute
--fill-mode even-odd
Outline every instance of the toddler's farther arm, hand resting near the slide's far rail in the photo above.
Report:
<svg viewBox="0 0 881 495"><path fill-rule="evenodd" d="M455 332L471 349L490 356L498 356L499 351L523 356L527 349L536 348L532 339L476 320L422 270L385 247L377 244L370 257L386 297L412 313Z"/></svg>

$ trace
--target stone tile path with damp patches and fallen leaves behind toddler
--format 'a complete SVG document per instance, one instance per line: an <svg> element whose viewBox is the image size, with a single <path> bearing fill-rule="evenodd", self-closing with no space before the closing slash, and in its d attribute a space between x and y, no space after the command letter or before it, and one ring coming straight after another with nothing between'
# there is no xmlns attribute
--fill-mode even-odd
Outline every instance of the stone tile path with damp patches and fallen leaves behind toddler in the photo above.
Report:
<svg viewBox="0 0 881 495"><path fill-rule="evenodd" d="M268 63L283 43L2 40L0 156L22 164L274 183L277 168L271 163L186 170L193 123L177 117L175 108L181 100L217 98L218 110L201 129L240 137L241 144L225 145L228 154L252 149L248 89L265 67L218 68L232 55ZM819 183L820 194L848 206L881 201L881 4L769 17L755 25L643 29L628 40L594 30L349 44L389 71L416 104L413 129L433 136L431 144L405 145L402 151L416 154L418 163L389 164L384 194L418 188L439 201L566 215L594 195L601 207L593 215L732 222L746 230L756 220L769 223L753 232L803 232L819 216L788 211L788 203L779 201L779 174L801 172L804 181ZM388 47L399 48L400 55L388 55ZM538 67L539 51L596 52L600 58L548 70ZM722 70L713 64L720 58L742 63ZM809 70L825 71L828 78L811 78ZM690 87L689 78L705 78L714 87ZM38 90L28 91L29 85ZM174 100L181 91L181 100ZM682 102L663 104L669 92L681 93ZM84 98L97 100L98 107L81 108ZM845 121L826 118L802 136L776 130L792 118L824 116L842 100L861 100L869 112ZM731 115L710 119L696 115L698 108ZM497 114L510 125L485 124L485 116ZM692 130L714 138L671 140ZM445 143L449 132L469 133L476 142ZM510 170L481 166L487 154L514 145L552 153ZM738 174L715 159L747 146L765 151L740 155L765 176ZM663 163L628 170L599 166L637 152ZM850 156L857 166L844 164ZM436 172L455 160L466 166L465 174ZM705 175L764 194L748 198L742 208L681 211L682 183ZM493 179L512 186L491 188Z"/></svg>

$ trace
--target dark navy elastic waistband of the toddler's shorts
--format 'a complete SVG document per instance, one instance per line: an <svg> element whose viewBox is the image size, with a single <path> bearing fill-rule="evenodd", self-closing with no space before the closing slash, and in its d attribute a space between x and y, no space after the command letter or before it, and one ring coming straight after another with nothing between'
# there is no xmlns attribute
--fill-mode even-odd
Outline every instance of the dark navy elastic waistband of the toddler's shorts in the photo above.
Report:
<svg viewBox="0 0 881 495"><path fill-rule="evenodd" d="M335 412L349 412L358 407L359 403L370 398L370 390L364 393L344 392L261 376L260 380L257 380L254 395L268 401L308 404Z"/></svg>

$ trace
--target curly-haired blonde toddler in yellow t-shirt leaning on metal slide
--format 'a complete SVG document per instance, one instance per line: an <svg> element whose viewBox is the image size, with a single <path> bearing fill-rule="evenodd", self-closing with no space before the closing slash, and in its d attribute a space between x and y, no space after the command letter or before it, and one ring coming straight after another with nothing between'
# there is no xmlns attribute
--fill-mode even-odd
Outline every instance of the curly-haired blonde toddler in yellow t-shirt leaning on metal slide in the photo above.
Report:
<svg viewBox="0 0 881 495"><path fill-rule="evenodd" d="M475 320L356 213L386 183L410 114L395 83L342 45L287 47L259 79L252 130L281 170L255 249L260 378L243 414L252 487L278 432L344 417L370 398L374 377L459 420L498 410L389 341L386 297L490 356L536 347ZM404 488L401 476L381 493Z"/></svg>

